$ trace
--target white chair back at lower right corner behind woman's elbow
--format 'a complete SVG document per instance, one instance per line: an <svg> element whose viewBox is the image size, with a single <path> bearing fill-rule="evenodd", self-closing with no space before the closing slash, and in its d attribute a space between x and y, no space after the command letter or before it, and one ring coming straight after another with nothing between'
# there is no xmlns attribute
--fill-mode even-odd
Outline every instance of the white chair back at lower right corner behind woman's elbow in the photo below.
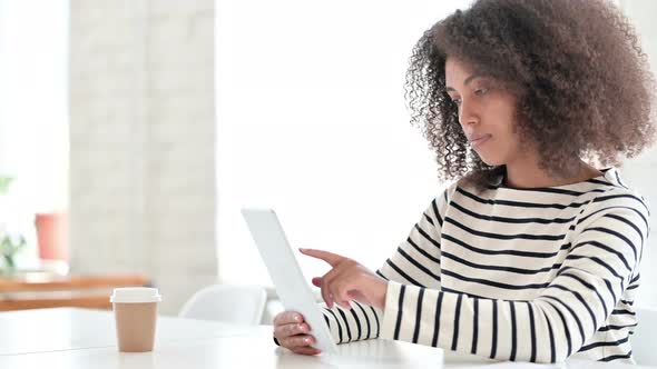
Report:
<svg viewBox="0 0 657 369"><path fill-rule="evenodd" d="M637 308L637 328L630 338L635 361L641 366L657 366L657 310Z"/></svg>

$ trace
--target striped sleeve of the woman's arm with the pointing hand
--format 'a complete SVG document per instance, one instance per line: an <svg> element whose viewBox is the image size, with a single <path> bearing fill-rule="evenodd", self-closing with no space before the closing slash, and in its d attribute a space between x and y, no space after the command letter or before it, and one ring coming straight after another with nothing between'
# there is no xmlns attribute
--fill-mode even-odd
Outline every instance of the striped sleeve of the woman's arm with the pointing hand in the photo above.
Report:
<svg viewBox="0 0 657 369"><path fill-rule="evenodd" d="M628 288L636 287L648 217L643 200L622 189L591 200L577 220L577 237L556 277L530 300L441 290L435 287L439 280L422 273L420 266L412 279L390 272L395 278L389 282L380 337L532 362L562 361L580 350L620 345L589 340L610 315L624 313L615 307ZM419 246L435 256L440 247L429 243ZM423 266L431 265L423 252L408 246L402 250L425 258ZM410 260L400 262L403 270L414 266ZM396 271L394 265L390 268ZM616 357L604 358L611 359Z"/></svg>

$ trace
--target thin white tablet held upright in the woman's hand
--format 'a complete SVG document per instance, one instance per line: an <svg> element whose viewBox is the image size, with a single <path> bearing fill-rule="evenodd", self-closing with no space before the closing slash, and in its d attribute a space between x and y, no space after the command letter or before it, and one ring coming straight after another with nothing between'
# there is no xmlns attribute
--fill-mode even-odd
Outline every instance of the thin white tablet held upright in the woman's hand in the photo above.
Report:
<svg viewBox="0 0 657 369"><path fill-rule="evenodd" d="M285 310L298 311L303 315L311 327L308 335L315 337L315 343L312 347L322 352L335 353L336 345L326 327L324 316L305 281L274 210L244 208L242 215Z"/></svg>

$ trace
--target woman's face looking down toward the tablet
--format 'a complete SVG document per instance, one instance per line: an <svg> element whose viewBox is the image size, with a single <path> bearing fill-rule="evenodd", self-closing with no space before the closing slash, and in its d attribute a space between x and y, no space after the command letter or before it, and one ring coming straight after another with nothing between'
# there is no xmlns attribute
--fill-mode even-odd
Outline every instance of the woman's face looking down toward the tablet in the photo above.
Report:
<svg viewBox="0 0 657 369"><path fill-rule="evenodd" d="M471 148L489 166L512 162L520 154L516 99L493 80L473 74L454 58L445 62L445 87L459 108L459 122Z"/></svg>

